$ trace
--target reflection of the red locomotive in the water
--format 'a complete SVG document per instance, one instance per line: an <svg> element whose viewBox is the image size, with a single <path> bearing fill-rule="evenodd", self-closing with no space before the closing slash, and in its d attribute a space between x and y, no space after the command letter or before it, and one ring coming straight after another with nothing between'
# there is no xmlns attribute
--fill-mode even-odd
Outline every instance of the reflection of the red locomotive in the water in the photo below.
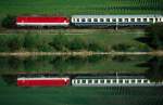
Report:
<svg viewBox="0 0 163 105"><path fill-rule="evenodd" d="M70 78L43 74L18 74L18 87L64 87L70 84Z"/></svg>

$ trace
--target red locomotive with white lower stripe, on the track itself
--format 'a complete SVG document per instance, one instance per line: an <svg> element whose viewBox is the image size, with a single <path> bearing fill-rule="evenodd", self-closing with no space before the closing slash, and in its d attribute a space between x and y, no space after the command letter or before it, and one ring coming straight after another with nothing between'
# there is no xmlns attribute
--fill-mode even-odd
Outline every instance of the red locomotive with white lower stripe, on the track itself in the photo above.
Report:
<svg viewBox="0 0 163 105"><path fill-rule="evenodd" d="M68 26L70 19L62 16L18 16L17 26Z"/></svg>

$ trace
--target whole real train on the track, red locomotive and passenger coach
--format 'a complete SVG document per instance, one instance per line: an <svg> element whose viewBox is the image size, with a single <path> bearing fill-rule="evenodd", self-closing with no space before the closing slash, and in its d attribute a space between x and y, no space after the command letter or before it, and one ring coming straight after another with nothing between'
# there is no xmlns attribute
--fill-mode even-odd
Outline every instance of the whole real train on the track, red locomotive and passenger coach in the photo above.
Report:
<svg viewBox="0 0 163 105"><path fill-rule="evenodd" d="M91 27L91 26L148 26L162 23L161 14L140 15L72 15L66 16L17 16L16 25L54 26L54 27Z"/></svg>

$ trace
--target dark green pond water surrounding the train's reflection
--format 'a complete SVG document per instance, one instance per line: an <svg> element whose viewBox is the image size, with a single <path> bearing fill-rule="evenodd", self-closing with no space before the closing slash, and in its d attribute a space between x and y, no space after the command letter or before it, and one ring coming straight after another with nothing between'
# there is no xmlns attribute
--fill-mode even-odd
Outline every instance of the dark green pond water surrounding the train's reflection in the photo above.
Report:
<svg viewBox="0 0 163 105"><path fill-rule="evenodd" d="M0 105L162 105L163 87L17 87L16 75L143 75L163 79L158 56L1 56Z"/></svg>

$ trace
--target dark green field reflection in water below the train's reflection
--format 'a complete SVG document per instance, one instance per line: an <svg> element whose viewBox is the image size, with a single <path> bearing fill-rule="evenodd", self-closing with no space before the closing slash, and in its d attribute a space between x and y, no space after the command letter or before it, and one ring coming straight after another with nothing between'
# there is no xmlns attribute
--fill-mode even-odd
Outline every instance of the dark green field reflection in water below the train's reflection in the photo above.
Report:
<svg viewBox="0 0 163 105"><path fill-rule="evenodd" d="M0 79L1 105L162 105L162 88L17 88Z"/></svg>

